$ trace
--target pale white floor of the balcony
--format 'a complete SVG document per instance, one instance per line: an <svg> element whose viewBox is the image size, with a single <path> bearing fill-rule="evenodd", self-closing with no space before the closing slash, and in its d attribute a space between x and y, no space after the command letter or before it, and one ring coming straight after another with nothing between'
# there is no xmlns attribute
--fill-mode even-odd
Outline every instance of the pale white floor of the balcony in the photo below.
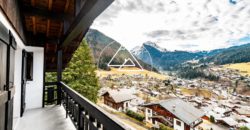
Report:
<svg viewBox="0 0 250 130"><path fill-rule="evenodd" d="M62 106L47 106L27 110L20 118L16 130L75 130Z"/></svg>

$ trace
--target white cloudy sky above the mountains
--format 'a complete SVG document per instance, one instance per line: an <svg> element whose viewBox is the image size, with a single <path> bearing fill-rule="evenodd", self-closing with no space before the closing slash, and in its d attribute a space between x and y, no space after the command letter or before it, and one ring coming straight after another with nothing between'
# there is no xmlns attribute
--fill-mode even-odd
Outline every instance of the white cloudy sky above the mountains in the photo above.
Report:
<svg viewBox="0 0 250 130"><path fill-rule="evenodd" d="M115 0L93 24L129 49L145 41L169 50L228 47L250 33L250 1Z"/></svg>

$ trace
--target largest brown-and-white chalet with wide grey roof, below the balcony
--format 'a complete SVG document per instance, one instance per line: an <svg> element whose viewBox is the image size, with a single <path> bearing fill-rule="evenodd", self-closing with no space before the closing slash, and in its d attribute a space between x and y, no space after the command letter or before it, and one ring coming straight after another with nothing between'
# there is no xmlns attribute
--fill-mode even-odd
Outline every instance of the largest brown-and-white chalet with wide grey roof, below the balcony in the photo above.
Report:
<svg viewBox="0 0 250 130"><path fill-rule="evenodd" d="M205 115L199 109L179 98L163 100L143 105L146 107L145 119L152 124L162 123L174 130L194 130L202 123Z"/></svg>

